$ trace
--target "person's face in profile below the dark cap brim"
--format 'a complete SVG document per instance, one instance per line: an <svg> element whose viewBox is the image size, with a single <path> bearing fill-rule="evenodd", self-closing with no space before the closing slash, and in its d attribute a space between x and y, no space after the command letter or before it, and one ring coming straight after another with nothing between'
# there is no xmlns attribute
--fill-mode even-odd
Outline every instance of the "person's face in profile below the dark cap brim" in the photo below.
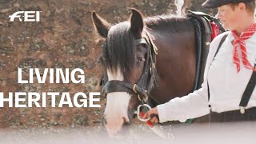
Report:
<svg viewBox="0 0 256 144"><path fill-rule="evenodd" d="M235 30L239 25L238 6L233 10L229 5L218 7L218 18L222 20L223 26L228 30Z"/></svg>

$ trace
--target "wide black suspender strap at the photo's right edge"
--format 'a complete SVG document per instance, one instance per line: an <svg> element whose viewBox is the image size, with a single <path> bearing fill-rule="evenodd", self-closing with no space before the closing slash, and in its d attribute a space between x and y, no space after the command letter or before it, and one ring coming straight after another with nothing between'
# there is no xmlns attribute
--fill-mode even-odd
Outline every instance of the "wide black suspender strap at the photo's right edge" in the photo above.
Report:
<svg viewBox="0 0 256 144"><path fill-rule="evenodd" d="M255 67L256 67L256 60L255 60L255 64L254 64L254 68ZM250 96L253 94L255 85L256 85L256 72L253 71L253 74L251 74L251 77L250 77L250 81L248 82L248 84L246 86L246 90L242 94L242 99L241 99L239 106L242 106L242 107L247 106L247 104L250 100Z"/></svg>

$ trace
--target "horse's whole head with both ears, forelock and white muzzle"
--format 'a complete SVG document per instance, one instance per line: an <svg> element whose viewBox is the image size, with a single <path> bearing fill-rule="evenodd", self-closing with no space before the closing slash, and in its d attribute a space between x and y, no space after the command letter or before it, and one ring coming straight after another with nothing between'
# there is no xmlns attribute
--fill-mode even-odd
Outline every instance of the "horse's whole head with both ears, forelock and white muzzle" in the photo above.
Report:
<svg viewBox="0 0 256 144"><path fill-rule="evenodd" d="M150 64L146 64L150 61L150 49L142 38L144 22L138 10L132 9L129 21L114 26L95 12L92 19L98 34L106 38L100 58L107 78L103 86L103 94L106 94L103 119L109 134L116 134L125 123L131 122L139 105L138 95L145 97L147 93L144 89L150 73Z"/></svg>

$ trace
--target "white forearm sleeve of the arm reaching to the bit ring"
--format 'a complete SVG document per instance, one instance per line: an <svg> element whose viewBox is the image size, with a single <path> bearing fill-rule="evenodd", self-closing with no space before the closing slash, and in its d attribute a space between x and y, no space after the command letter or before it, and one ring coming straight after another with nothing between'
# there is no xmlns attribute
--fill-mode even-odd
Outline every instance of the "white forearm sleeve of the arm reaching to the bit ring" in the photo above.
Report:
<svg viewBox="0 0 256 144"><path fill-rule="evenodd" d="M199 90L182 98L174 98L169 102L158 105L160 122L180 121L185 122L189 118L198 118L210 112L208 107L207 89L205 83Z"/></svg>

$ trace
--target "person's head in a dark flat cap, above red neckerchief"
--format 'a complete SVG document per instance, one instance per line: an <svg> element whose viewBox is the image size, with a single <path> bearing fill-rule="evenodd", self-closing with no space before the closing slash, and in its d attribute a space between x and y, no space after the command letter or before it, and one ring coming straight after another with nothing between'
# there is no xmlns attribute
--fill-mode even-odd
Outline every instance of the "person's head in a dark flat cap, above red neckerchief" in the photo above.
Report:
<svg viewBox="0 0 256 144"><path fill-rule="evenodd" d="M228 30L238 30L254 20L255 0L206 0L202 6L218 8L218 18Z"/></svg>

